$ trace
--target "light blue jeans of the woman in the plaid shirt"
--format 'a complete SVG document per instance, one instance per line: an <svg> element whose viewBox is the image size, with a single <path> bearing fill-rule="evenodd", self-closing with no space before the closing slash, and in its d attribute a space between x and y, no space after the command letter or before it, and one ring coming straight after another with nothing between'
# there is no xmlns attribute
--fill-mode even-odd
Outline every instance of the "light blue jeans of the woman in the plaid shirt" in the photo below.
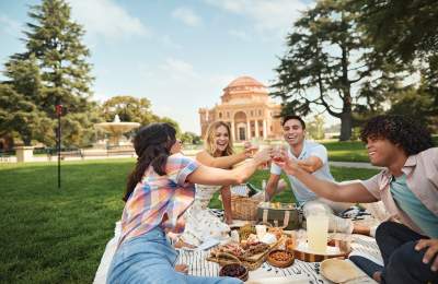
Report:
<svg viewBox="0 0 438 284"><path fill-rule="evenodd" d="M106 282L113 283L220 283L238 284L231 277L200 277L176 272L177 252L161 228L122 244L114 255ZM188 264L188 263L187 263Z"/></svg>

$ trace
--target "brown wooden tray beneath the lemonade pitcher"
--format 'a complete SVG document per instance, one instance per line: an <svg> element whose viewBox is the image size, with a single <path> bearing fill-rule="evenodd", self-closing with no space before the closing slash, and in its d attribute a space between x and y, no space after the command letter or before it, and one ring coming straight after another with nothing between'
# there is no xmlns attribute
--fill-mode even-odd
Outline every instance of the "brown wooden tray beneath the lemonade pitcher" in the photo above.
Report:
<svg viewBox="0 0 438 284"><path fill-rule="evenodd" d="M348 241L336 240L334 242L328 242L328 247L337 247L339 249L338 253L315 253L309 252L300 247L293 249L293 256L296 259L307 261L307 262L321 262L324 259L341 258L345 259L351 252L351 247Z"/></svg>

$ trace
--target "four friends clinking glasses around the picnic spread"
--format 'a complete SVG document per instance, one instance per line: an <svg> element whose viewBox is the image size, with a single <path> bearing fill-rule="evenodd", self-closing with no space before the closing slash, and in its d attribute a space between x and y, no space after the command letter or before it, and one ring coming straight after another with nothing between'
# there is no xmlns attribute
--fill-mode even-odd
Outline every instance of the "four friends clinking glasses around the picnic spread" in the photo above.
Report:
<svg viewBox="0 0 438 284"><path fill-rule="evenodd" d="M286 188L284 171L297 202L306 210L332 214L330 229L369 234L334 214L351 203L382 201L388 221L376 230L384 267L351 257L380 283L438 283L438 147L430 133L402 116L378 116L365 125L361 140L370 162L383 169L368 180L337 184L330 173L326 149L306 140L298 116L283 118L288 144L272 162L266 200ZM181 141L168 123L152 123L134 139L137 164L128 177L122 235L107 283L241 283L232 277L200 277L175 268L177 251L169 239L198 246L208 238L224 239L232 223L230 186L245 182L273 149L254 153L251 143L233 152L231 131L222 121L209 126L205 150L196 159L181 153ZM243 162L243 163L242 163ZM220 191L224 223L208 210Z"/></svg>

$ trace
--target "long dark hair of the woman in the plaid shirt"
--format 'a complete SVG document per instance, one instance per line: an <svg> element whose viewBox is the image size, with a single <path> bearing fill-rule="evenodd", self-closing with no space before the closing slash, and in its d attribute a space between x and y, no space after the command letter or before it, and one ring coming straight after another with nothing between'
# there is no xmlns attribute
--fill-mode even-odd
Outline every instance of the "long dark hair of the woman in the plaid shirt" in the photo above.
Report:
<svg viewBox="0 0 438 284"><path fill-rule="evenodd" d="M165 175L170 150L176 142L176 131L169 123L151 123L142 127L134 138L137 164L128 177L123 200L126 202L149 166L160 176Z"/></svg>

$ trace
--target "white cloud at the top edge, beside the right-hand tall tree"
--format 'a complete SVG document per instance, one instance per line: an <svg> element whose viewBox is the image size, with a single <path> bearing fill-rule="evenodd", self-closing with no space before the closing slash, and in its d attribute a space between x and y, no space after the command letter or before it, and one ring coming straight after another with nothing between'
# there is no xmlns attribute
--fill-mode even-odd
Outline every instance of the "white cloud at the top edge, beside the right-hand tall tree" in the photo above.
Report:
<svg viewBox="0 0 438 284"><path fill-rule="evenodd" d="M300 12L309 8L303 0L205 0L205 2L252 19L258 32L281 36L290 29Z"/></svg>

